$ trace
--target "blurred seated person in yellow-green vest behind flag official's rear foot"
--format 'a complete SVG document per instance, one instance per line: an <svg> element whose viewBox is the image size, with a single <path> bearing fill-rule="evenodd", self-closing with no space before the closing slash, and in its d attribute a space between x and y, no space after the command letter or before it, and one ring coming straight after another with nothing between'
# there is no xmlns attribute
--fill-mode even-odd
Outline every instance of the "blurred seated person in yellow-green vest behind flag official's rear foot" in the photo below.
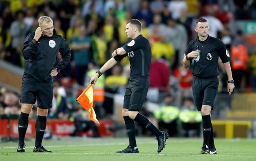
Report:
<svg viewBox="0 0 256 161"><path fill-rule="evenodd" d="M162 106L154 111L154 116L159 119L158 125L160 130L167 131L170 136L177 135L179 109L170 94L164 96Z"/></svg>

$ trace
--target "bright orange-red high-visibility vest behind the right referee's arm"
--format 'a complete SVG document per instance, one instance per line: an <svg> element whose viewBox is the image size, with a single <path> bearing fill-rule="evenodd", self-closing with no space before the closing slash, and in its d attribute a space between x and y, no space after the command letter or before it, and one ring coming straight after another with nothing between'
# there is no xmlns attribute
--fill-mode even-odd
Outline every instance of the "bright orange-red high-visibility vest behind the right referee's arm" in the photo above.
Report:
<svg viewBox="0 0 256 161"><path fill-rule="evenodd" d="M246 46L239 44L237 46L231 46L231 68L236 69L247 69L247 62L249 55Z"/></svg>

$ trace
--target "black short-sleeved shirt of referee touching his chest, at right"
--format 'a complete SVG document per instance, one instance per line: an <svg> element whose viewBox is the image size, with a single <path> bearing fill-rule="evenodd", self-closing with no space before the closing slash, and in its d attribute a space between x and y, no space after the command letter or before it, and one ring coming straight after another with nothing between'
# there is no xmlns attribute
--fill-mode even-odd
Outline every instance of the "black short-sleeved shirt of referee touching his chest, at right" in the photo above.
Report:
<svg viewBox="0 0 256 161"><path fill-rule="evenodd" d="M196 77L203 78L219 75L219 57L223 63L230 61L230 56L224 43L215 37L208 35L205 41L200 41L198 37L190 41L185 51L185 56L197 49L201 50L201 52L197 58L194 58L192 69L192 74Z"/></svg>

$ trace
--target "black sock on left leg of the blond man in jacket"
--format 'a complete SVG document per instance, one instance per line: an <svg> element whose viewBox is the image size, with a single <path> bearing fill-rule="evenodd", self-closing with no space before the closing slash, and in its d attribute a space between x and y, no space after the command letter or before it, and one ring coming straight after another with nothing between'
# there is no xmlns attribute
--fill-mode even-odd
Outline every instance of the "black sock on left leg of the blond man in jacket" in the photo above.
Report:
<svg viewBox="0 0 256 161"><path fill-rule="evenodd" d="M25 144L24 139L27 131L28 125L28 116L27 113L20 113L19 121L18 121L18 131L19 131L19 144Z"/></svg>

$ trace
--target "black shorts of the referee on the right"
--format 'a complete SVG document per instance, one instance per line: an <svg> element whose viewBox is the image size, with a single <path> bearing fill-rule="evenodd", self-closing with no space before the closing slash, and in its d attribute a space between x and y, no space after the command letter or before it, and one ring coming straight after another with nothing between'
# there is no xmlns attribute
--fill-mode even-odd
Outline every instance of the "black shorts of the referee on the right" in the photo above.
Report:
<svg viewBox="0 0 256 161"><path fill-rule="evenodd" d="M193 80L193 95L195 99L195 105L198 111L201 111L202 105L212 106L218 91L219 79L217 76L209 78L198 78L194 76Z"/></svg>

